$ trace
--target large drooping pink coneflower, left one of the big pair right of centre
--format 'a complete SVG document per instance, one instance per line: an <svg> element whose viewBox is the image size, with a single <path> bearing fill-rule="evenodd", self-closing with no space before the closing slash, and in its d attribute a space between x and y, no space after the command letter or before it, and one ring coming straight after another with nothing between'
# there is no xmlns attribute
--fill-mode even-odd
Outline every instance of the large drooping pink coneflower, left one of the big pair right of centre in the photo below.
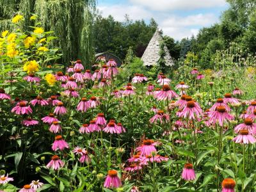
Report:
<svg viewBox="0 0 256 192"><path fill-rule="evenodd" d="M195 119L202 115L203 111L200 106L193 100L186 103L186 107L179 113L180 117Z"/></svg>

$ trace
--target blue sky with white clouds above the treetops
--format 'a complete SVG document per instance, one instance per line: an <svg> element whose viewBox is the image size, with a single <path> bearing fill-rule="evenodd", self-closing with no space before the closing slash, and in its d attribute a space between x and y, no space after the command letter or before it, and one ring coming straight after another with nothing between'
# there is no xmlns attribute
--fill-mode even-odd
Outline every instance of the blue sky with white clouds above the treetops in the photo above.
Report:
<svg viewBox="0 0 256 192"><path fill-rule="evenodd" d="M196 35L200 28L219 22L221 12L228 8L225 0L98 0L102 16L112 15L124 21L154 18L164 35L180 40Z"/></svg>

